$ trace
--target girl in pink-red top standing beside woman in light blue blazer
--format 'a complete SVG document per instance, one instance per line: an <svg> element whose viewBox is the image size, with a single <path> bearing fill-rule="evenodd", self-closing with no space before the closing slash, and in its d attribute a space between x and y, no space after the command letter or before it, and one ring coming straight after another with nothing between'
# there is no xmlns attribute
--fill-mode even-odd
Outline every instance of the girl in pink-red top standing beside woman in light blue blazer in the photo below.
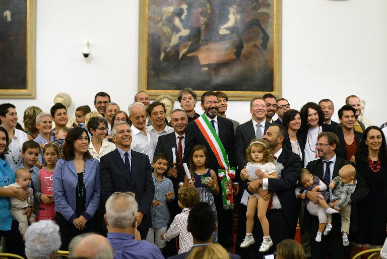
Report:
<svg viewBox="0 0 387 259"><path fill-rule="evenodd" d="M43 146L43 158L46 166L40 169L34 185L35 200L39 202L38 220L54 220L55 217L52 174L59 152L59 146L53 142L46 143Z"/></svg>

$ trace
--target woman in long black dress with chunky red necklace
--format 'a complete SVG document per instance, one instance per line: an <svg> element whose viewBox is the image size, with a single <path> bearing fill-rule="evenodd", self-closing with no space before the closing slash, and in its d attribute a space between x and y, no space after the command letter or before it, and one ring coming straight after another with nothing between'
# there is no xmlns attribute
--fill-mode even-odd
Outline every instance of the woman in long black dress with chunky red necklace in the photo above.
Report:
<svg viewBox="0 0 387 259"><path fill-rule="evenodd" d="M357 204L357 232L351 238L351 252L356 254L362 247L382 247L387 237L387 153L385 138L379 127L366 128L351 161L356 164L357 173L363 176L369 188L368 195Z"/></svg>

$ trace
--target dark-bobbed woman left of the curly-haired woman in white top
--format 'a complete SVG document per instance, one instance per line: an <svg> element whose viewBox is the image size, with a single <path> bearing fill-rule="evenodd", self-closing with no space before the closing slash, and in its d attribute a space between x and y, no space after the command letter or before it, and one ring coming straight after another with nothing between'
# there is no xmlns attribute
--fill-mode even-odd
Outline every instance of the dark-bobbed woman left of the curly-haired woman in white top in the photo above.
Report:
<svg viewBox="0 0 387 259"><path fill-rule="evenodd" d="M286 128L288 134L284 140L283 146L288 150L298 154L301 161L304 157L305 142L301 136L301 116L298 110L290 109L284 112L282 125Z"/></svg>

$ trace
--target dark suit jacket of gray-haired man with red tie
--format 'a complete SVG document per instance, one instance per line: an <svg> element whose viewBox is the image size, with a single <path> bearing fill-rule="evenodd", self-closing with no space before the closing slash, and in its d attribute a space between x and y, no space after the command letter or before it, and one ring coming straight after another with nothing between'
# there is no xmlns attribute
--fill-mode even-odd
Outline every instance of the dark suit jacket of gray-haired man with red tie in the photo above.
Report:
<svg viewBox="0 0 387 259"><path fill-rule="evenodd" d="M176 152L175 152L176 162L178 162L179 156L178 156L178 150L176 145L175 132L159 137L154 156L156 156L156 154L159 154L159 153L163 153L164 155L166 155L168 157L168 169L173 168L172 148L176 149ZM177 195L179 182L184 182L185 173L184 173L184 169L182 169L181 171L179 170L179 165L176 165L176 171L177 171L177 178L174 178L174 177L168 177L168 178L171 179L173 183L173 188L175 190L175 194Z"/></svg>

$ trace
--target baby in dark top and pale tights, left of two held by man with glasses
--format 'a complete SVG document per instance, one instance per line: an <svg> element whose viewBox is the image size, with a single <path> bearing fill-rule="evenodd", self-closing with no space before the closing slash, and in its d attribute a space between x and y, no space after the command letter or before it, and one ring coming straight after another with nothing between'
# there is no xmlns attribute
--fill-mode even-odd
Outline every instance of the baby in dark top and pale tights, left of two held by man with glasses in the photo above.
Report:
<svg viewBox="0 0 387 259"><path fill-rule="evenodd" d="M316 242L320 242L322 231L324 231L327 224L327 214L338 213L338 211L330 208L326 202L329 198L327 185L317 176L312 175L307 169L303 168L301 169L299 183L295 191L296 197L304 200L304 206L310 215L318 217L318 230L315 240ZM320 193L318 204L311 203L306 198L307 191L318 191Z"/></svg>

